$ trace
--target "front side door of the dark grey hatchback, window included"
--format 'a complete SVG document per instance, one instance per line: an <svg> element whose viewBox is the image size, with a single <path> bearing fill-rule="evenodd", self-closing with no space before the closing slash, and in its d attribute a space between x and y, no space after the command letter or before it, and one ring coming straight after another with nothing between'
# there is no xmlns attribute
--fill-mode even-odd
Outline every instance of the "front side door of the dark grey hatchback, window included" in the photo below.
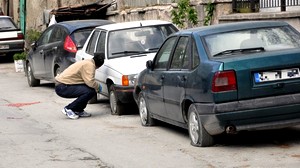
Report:
<svg viewBox="0 0 300 168"><path fill-rule="evenodd" d="M45 76L45 48L47 48L47 45L49 43L53 27L54 26L49 27L47 30L45 30L39 40L33 46L32 68L34 76L37 78L42 78Z"/></svg>

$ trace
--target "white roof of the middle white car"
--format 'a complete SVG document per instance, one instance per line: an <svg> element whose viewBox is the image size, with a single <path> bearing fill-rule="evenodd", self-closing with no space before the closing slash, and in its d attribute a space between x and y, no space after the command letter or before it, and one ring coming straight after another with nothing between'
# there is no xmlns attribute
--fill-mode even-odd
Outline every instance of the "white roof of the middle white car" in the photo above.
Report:
<svg viewBox="0 0 300 168"><path fill-rule="evenodd" d="M162 21L162 20L142 20L142 21L121 22L121 23L114 23L114 24L109 24L104 26L98 26L97 29L105 29L111 31L111 30L127 29L133 27L165 25L165 24L172 24L172 23L168 21Z"/></svg>

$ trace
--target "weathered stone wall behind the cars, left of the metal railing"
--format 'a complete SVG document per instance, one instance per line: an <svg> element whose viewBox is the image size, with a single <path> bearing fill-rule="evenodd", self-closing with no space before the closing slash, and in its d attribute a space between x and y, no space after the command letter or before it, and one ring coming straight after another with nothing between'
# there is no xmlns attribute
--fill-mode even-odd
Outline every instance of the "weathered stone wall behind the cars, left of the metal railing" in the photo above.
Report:
<svg viewBox="0 0 300 168"><path fill-rule="evenodd" d="M3 2L0 1L0 6ZM18 0L14 1L14 15L18 16ZM171 10L177 7L179 0L116 0L116 4L108 9L108 19L115 22L134 20L159 19L171 21ZM103 0L103 3L111 3L112 0ZM216 4L216 12L212 24L218 23L220 15L228 14L231 10L231 0L191 0L191 4L198 12L199 24L203 25L205 17L205 5L208 2ZM73 6L95 3L95 0L27 0L26 29L37 29L43 31L49 18L45 18L44 12L62 6ZM19 17L15 17L18 22Z"/></svg>

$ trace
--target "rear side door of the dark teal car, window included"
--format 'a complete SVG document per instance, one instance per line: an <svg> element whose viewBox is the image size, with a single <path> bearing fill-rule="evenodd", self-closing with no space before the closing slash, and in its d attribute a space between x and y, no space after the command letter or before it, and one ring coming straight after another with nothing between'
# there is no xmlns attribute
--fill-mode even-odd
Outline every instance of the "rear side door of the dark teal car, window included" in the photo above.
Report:
<svg viewBox="0 0 300 168"><path fill-rule="evenodd" d="M189 74L190 47L189 37L179 38L169 70L165 72L163 83L164 102L168 118L183 122L181 102L185 98L185 85Z"/></svg>

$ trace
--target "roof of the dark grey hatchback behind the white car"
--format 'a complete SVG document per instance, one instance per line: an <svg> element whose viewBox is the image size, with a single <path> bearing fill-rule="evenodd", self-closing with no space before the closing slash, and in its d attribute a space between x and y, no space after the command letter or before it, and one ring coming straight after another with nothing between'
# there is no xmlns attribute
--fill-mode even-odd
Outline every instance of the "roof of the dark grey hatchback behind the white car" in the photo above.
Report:
<svg viewBox="0 0 300 168"><path fill-rule="evenodd" d="M88 20L72 20L72 21L64 21L57 23L58 25L62 25L66 27L70 33L75 30L86 28L86 27L96 27L100 25L112 24L113 21L110 20L102 20L102 19L88 19Z"/></svg>

